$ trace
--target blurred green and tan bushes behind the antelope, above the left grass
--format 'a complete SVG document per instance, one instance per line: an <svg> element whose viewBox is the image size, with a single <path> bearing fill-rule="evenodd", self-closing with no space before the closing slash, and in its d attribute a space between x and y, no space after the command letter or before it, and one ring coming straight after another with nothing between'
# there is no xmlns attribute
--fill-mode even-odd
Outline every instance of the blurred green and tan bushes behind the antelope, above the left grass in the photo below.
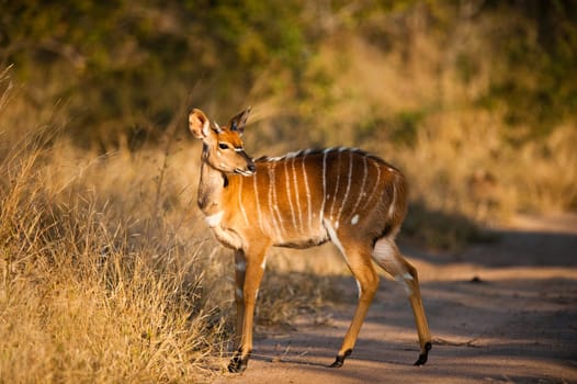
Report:
<svg viewBox="0 0 577 384"><path fill-rule="evenodd" d="M252 105L253 156L359 146L419 206L482 222L577 207L573 1L0 7L4 143L43 127L135 153L190 142L191 108L225 123Z"/></svg>

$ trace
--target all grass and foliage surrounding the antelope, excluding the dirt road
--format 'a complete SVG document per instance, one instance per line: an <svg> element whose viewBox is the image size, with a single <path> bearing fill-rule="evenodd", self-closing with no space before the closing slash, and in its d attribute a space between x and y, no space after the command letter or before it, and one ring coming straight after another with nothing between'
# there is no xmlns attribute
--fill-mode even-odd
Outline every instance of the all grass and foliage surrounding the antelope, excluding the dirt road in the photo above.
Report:
<svg viewBox="0 0 577 384"><path fill-rule="evenodd" d="M231 259L186 116L248 105L253 157L400 168L401 236L427 251L577 211L575 1L0 0L0 377L178 382L226 359ZM275 260L260 324L342 296L343 262Z"/></svg>

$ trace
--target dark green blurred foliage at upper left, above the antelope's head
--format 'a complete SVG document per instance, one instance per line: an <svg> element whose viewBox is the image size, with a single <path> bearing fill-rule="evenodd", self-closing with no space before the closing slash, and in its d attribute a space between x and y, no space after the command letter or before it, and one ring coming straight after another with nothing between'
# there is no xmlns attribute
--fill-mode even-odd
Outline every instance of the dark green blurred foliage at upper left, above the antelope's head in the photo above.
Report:
<svg viewBox="0 0 577 384"><path fill-rule="evenodd" d="M79 143L154 138L191 92L233 111L269 66L297 76L314 44L302 15L299 1L8 2L0 63L50 84L31 97L65 100Z"/></svg>

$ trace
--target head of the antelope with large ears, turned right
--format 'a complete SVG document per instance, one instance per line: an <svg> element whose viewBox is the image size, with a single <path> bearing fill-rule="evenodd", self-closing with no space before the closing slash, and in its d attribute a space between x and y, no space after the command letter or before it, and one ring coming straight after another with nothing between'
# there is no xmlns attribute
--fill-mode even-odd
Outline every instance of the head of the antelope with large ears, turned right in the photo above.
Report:
<svg viewBox="0 0 577 384"><path fill-rule="evenodd" d="M252 159L242 147L242 133L250 108L240 112L224 127L211 121L201 110L192 110L189 115L189 128L203 142L203 161L223 173L251 176L256 171Z"/></svg>

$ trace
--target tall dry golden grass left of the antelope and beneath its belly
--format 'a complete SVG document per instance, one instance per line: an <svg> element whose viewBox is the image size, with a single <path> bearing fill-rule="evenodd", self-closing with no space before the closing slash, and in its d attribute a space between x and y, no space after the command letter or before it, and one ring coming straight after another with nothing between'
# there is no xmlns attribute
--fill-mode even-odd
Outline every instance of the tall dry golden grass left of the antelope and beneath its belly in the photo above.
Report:
<svg viewBox="0 0 577 384"><path fill-rule="evenodd" d="M211 381L234 269L196 207L199 146L177 121L160 146L99 154L49 108L10 87L0 104L0 382ZM324 303L328 280L274 264L259 324Z"/></svg>

